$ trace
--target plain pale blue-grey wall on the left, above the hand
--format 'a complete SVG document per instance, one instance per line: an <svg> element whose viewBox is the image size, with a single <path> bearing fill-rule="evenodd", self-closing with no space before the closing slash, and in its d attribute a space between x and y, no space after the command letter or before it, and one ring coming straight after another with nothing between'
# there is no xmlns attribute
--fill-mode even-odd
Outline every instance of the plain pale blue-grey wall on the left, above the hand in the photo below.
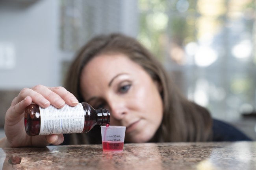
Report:
<svg viewBox="0 0 256 170"><path fill-rule="evenodd" d="M60 85L59 1L0 5L0 127L24 87Z"/></svg>

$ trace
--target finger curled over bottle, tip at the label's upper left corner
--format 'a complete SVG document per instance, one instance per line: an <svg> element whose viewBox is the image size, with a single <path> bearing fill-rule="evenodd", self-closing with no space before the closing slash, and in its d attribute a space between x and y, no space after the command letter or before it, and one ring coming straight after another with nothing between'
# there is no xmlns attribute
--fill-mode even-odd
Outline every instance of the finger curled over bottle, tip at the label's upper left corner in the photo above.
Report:
<svg viewBox="0 0 256 170"><path fill-rule="evenodd" d="M38 104L43 108L48 107L50 105L50 101L45 99L45 97L41 93L38 93L37 91L32 90L30 88L23 88L20 91L19 95L15 97L15 99L13 100L13 104L19 103L27 96L30 96L34 103Z"/></svg>

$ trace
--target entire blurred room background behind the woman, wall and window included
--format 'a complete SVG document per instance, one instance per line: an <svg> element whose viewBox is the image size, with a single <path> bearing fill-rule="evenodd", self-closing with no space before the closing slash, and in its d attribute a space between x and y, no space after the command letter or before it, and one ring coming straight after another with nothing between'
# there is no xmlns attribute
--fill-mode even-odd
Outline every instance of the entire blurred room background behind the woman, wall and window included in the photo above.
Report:
<svg viewBox="0 0 256 170"><path fill-rule="evenodd" d="M0 0L0 128L22 88L62 86L76 51L113 32L137 38L184 95L256 139L255 0Z"/></svg>

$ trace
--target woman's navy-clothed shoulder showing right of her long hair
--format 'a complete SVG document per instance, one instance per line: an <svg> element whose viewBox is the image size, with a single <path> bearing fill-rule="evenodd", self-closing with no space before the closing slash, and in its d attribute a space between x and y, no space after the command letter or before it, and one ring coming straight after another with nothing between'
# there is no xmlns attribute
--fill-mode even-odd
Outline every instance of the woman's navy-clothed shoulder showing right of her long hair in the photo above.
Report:
<svg viewBox="0 0 256 170"><path fill-rule="evenodd" d="M213 141L251 141L251 139L231 124L213 119Z"/></svg>

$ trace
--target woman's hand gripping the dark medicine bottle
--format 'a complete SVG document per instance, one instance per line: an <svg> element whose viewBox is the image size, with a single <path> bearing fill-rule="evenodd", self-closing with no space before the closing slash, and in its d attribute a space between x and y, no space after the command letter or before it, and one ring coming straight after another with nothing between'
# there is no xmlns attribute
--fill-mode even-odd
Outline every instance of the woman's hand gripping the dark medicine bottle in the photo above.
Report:
<svg viewBox="0 0 256 170"><path fill-rule="evenodd" d="M30 104L35 103L46 108L52 104L56 108L62 108L65 103L76 106L78 100L63 87L46 87L37 85L33 88L24 88L13 99L10 108L6 112L4 129L6 139L0 141L2 147L43 147L49 144L61 144L64 140L62 134L28 136L24 128L24 110Z"/></svg>

